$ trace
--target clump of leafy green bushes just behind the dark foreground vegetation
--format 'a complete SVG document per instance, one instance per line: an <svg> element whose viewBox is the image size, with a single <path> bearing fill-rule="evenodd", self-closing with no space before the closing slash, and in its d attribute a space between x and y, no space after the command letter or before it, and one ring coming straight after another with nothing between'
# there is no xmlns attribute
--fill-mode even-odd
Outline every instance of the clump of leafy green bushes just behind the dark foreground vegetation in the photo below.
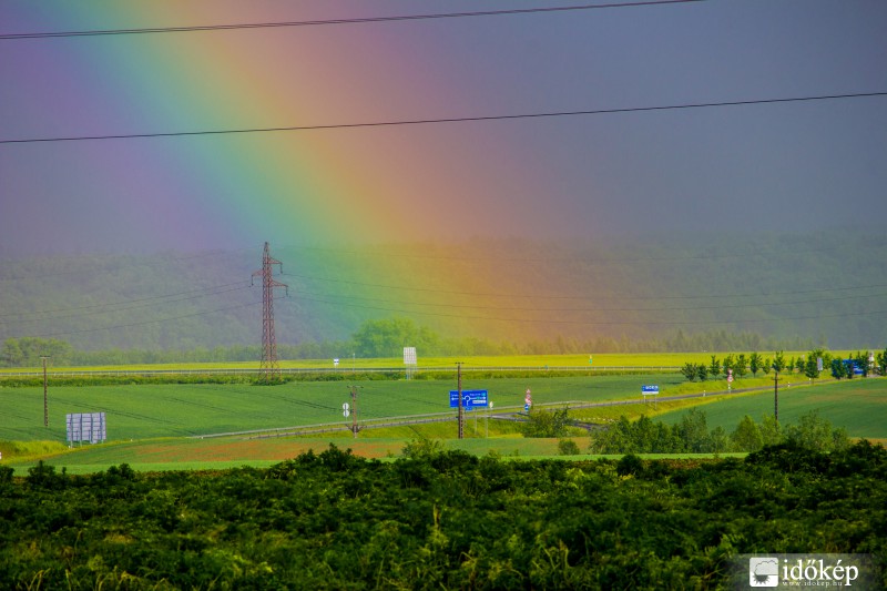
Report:
<svg viewBox="0 0 887 591"><path fill-rule="evenodd" d="M789 425L781 425L772 415L764 415L761 422L746 415L727 432L721 426L708 429L705 411L692 408L675 425L646 416L630 421L623 415L609 428L592 434L589 449L593 454L724 454L752 452L779 444L826 452L846 449L850 440L843 427L832 427L816 410Z"/></svg>

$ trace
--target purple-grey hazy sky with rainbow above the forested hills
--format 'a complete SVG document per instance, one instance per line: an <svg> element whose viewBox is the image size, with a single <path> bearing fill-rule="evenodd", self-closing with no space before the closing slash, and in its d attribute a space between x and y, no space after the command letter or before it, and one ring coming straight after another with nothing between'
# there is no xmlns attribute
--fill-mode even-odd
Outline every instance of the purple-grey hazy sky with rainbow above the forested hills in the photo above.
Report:
<svg viewBox="0 0 887 591"><path fill-rule="evenodd" d="M0 33L570 2L0 3ZM575 3L573 3L575 4ZM0 140L887 92L887 2L742 0L0 39ZM0 144L0 257L880 227L887 96L483 122Z"/></svg>

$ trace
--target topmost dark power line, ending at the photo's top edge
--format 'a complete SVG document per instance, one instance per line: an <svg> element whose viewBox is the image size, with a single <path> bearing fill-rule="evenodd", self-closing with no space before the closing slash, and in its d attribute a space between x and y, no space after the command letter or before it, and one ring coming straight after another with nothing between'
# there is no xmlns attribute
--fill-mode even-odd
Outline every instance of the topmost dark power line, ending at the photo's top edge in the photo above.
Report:
<svg viewBox="0 0 887 591"><path fill-rule="evenodd" d="M237 29L271 29L286 27L319 27L332 24L370 24L378 22L421 21L435 19L462 19L470 17L504 17L516 14L540 14L551 12L574 12L580 10L598 10L611 8L639 8L663 4L689 4L705 2L706 0L650 0L640 2L611 2L606 4L581 4L573 7L542 7L509 10L485 10L477 12L441 12L431 14L400 14L392 17L364 17L353 19L326 19L313 21L283 21L283 22L242 22L234 24L201 24L193 27L156 27L146 29L105 29L93 31L60 31L43 33L7 33L0 34L0 41L14 41L19 39L55 39L67 37L100 37L125 35L147 33L192 33L201 31L231 31Z"/></svg>

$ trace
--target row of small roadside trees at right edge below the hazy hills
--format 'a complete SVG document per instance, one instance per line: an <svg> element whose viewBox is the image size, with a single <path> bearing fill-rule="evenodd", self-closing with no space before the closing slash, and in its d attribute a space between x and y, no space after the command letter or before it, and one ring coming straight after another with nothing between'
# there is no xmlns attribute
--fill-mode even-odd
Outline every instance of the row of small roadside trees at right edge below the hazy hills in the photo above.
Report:
<svg viewBox="0 0 887 591"><path fill-rule="evenodd" d="M854 369L859 369L864 377L868 376L871 370L880 375L887 375L887 349L875 355L874 364L869 363L868 355L865 351L856 351L848 359L835 357L830 351L824 349L813 349L806 356L791 357L788 359L786 359L784 351L781 350L775 351L772 358L764 357L756 351L750 355L744 353L738 355L730 354L723 359L712 355L708 364L684 364L681 368L681 374L690 381L697 379L700 381L716 380L728 375L743 378L750 373L752 376L757 377L758 373L767 375L771 370L779 374L797 371L805 377L816 379L822 373L820 360L822 367L830 368L832 376L837 379L852 378Z"/></svg>

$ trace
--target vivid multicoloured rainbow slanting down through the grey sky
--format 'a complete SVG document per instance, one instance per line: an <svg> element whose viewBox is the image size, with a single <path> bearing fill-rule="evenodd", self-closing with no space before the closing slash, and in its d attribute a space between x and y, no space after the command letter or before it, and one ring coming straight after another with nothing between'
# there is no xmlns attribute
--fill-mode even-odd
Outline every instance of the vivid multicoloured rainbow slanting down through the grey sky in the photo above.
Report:
<svg viewBox="0 0 887 591"><path fill-rule="evenodd" d="M100 12L85 3L21 3L4 30L336 17L335 8L316 13L322 4L299 7L296 16L292 4L265 7L261 16L241 3L157 6L111 3ZM20 116L3 135L164 134L463 113L470 105L449 88L447 57L432 37L427 28L369 24L19 40L21 86L6 108ZM519 143L501 126L412 125L53 142L6 152L51 171L22 190L44 198L47 210L81 220L53 234L62 248L255 248L258 261L266 241L273 252L395 245L347 273L378 285L431 286L437 302L458 293L457 304L466 306L477 300L472 289L490 289L492 263L405 262L396 245L461 244L539 222L526 198L510 201L518 185L533 183L520 173L530 163L513 147ZM422 293L384 297L431 299ZM404 307L380 304L367 315ZM460 309L443 310L437 324L458 320Z"/></svg>

